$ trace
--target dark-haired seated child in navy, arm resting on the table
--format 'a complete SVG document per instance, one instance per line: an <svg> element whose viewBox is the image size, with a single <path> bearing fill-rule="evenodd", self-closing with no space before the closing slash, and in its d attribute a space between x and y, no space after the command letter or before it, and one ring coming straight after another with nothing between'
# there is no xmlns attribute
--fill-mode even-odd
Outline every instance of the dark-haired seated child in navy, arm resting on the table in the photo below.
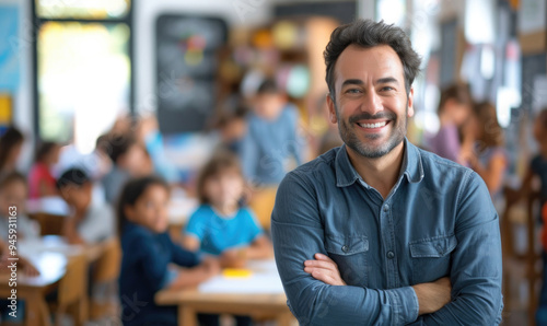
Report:
<svg viewBox="0 0 547 326"><path fill-rule="evenodd" d="M154 176L132 179L116 209L121 238L119 296L121 322L132 325L177 325L175 306L159 306L154 295L163 288L196 286L220 270L219 263L184 251L167 233L170 188ZM185 269L170 269L174 263ZM135 306L135 301L146 304Z"/></svg>

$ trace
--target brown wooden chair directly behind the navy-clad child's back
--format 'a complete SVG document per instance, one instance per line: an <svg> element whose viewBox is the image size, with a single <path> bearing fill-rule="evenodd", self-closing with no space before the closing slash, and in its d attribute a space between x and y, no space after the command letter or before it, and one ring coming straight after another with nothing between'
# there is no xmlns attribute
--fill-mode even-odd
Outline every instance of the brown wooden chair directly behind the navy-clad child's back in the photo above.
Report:
<svg viewBox="0 0 547 326"><path fill-rule="evenodd" d="M103 254L94 263L91 280L94 289L102 289L103 298L92 295L90 302L91 318L115 315L118 305L112 300L117 293L117 281L121 264L121 245L118 237L105 241Z"/></svg>

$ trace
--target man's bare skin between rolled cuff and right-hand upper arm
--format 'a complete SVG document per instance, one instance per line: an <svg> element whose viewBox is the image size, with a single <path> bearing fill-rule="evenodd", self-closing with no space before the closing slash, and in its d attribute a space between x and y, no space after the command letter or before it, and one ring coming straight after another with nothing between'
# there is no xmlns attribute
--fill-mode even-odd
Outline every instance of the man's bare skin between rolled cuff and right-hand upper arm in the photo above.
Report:
<svg viewBox="0 0 547 326"><path fill-rule="evenodd" d="M447 277L431 283L416 284L412 288L418 296L419 315L432 314L451 301L452 284Z"/></svg>

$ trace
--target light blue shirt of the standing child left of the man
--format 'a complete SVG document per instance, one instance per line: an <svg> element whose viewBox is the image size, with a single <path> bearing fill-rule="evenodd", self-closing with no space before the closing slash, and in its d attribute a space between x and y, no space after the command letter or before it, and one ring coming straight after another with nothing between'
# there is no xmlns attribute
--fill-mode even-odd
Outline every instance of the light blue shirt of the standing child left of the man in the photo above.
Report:
<svg viewBox="0 0 547 326"><path fill-rule="evenodd" d="M241 144L242 170L247 179L260 185L277 185L287 174L291 156L296 165L302 164L298 123L299 114L293 105L286 106L274 121L249 115L248 130Z"/></svg>

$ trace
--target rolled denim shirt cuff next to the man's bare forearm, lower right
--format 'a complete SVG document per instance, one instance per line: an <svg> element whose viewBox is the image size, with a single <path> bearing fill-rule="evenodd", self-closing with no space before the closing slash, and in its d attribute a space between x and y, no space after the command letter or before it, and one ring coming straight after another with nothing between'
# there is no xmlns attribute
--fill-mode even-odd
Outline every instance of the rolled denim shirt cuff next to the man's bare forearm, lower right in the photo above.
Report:
<svg viewBox="0 0 547 326"><path fill-rule="evenodd" d="M385 290L393 306L396 325L406 325L418 318L418 296L411 287Z"/></svg>

